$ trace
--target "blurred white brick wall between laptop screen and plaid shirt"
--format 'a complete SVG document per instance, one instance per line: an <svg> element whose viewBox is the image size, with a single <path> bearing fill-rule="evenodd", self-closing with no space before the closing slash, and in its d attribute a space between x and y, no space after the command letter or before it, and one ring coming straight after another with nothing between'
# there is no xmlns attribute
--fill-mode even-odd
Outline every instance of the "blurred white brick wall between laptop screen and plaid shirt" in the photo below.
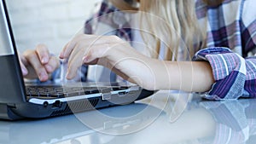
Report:
<svg viewBox="0 0 256 144"><path fill-rule="evenodd" d="M46 44L58 55L102 0L7 0L20 52Z"/></svg>

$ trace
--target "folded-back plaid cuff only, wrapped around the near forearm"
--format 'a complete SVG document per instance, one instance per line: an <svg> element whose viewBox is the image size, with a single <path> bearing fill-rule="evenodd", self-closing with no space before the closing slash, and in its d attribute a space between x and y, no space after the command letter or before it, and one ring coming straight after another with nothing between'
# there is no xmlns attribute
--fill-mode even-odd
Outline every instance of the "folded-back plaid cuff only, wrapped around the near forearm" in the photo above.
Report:
<svg viewBox="0 0 256 144"><path fill-rule="evenodd" d="M212 66L215 83L204 97L209 100L238 99L244 93L246 81L245 60L228 48L201 49L193 60L207 60Z"/></svg>

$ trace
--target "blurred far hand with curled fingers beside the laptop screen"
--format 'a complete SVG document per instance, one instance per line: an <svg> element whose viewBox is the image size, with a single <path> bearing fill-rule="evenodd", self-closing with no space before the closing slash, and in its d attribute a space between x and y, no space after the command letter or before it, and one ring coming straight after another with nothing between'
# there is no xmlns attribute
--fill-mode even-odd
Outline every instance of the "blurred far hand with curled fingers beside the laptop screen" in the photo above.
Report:
<svg viewBox="0 0 256 144"><path fill-rule="evenodd" d="M19 55L20 66L24 78L39 78L44 82L60 66L60 60L49 54L44 44L39 44L36 49L26 50Z"/></svg>

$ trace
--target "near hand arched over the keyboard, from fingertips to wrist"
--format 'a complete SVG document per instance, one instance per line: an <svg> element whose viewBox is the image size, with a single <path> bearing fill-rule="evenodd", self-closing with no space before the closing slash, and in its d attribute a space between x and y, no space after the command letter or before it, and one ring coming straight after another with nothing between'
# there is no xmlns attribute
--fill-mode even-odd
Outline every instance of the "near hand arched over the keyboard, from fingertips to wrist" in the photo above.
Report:
<svg viewBox="0 0 256 144"><path fill-rule="evenodd" d="M74 78L83 64L98 64L143 88L151 89L154 84L154 60L116 36L79 35L67 43L60 58L68 58L67 79Z"/></svg>

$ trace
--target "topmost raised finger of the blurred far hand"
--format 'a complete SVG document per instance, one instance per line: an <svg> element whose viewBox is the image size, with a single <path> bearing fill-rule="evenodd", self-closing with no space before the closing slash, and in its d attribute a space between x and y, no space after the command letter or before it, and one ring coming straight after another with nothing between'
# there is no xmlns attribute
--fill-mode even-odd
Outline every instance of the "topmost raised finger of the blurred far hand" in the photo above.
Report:
<svg viewBox="0 0 256 144"><path fill-rule="evenodd" d="M36 52L42 64L49 62L49 49L44 44L39 44L36 48Z"/></svg>

